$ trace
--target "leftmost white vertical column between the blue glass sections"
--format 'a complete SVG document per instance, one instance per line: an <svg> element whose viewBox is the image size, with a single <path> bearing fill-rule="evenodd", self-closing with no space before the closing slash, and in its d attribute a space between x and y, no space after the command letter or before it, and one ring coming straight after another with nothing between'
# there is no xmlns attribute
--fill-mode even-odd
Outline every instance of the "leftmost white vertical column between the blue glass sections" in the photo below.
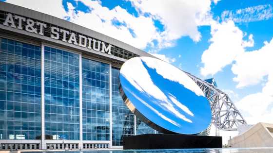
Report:
<svg viewBox="0 0 273 153"><path fill-rule="evenodd" d="M41 149L46 150L44 128L44 44L41 44Z"/></svg>

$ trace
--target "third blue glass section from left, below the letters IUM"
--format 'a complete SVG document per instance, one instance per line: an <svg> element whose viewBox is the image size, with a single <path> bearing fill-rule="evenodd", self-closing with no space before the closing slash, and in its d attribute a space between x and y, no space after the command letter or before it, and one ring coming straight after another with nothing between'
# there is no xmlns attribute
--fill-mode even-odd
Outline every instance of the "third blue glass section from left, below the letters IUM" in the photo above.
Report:
<svg viewBox="0 0 273 153"><path fill-rule="evenodd" d="M110 140L109 64L82 58L83 140Z"/></svg>

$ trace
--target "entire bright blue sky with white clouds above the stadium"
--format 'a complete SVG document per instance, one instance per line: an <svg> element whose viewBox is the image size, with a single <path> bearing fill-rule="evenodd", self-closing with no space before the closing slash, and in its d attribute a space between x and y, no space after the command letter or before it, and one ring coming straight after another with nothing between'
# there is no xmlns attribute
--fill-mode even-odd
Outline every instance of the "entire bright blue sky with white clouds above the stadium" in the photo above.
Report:
<svg viewBox="0 0 273 153"><path fill-rule="evenodd" d="M7 0L214 77L249 124L273 122L272 0ZM54 5L53 5L54 4Z"/></svg>

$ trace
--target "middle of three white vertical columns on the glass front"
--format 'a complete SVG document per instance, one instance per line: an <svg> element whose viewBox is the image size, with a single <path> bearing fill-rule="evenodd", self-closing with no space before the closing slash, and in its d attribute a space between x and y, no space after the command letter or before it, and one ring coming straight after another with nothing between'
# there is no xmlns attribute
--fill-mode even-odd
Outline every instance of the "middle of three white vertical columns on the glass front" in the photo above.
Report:
<svg viewBox="0 0 273 153"><path fill-rule="evenodd" d="M79 149L82 149L82 66L81 54L79 54Z"/></svg>

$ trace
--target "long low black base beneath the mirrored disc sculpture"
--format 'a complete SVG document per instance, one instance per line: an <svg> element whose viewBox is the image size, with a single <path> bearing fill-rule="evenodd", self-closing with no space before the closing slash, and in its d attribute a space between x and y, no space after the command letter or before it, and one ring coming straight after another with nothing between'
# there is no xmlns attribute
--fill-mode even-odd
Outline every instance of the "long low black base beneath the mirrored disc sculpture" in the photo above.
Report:
<svg viewBox="0 0 273 153"><path fill-rule="evenodd" d="M221 136L146 134L123 138L123 149L222 148Z"/></svg>

